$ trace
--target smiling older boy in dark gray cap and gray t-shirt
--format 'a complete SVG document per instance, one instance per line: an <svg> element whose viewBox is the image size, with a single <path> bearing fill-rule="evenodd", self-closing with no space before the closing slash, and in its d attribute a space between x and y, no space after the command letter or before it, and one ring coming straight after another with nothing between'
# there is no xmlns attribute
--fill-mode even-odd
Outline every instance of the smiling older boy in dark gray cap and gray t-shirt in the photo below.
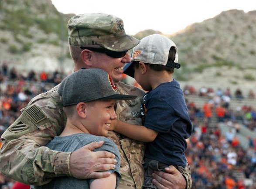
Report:
<svg viewBox="0 0 256 189"><path fill-rule="evenodd" d="M117 188L121 178L119 150L113 141L102 136L106 136L110 123L116 119L116 100L134 99L136 96L118 94L110 75L100 69L81 69L72 73L61 82L58 93L67 122L60 136L55 136L47 146L53 150L73 152L89 143L104 141L94 151L114 153L116 167L110 170L112 174L106 178L85 180L58 177L36 188Z"/></svg>

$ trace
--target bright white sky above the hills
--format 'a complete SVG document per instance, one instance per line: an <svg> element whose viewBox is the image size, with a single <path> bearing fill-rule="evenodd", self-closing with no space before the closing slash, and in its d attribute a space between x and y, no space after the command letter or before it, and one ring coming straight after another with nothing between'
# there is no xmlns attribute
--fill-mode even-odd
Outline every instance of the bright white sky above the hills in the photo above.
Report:
<svg viewBox="0 0 256 189"><path fill-rule="evenodd" d="M256 10L254 0L51 0L62 13L108 13L123 19L127 34L153 29L172 34L225 10ZM254 2L254 3L253 3Z"/></svg>

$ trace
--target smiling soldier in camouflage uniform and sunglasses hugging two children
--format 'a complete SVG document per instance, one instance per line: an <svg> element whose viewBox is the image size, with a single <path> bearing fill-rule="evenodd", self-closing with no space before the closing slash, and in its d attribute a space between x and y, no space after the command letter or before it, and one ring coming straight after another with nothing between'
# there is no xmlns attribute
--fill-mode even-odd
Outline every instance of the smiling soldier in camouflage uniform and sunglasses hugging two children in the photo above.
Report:
<svg viewBox="0 0 256 189"><path fill-rule="evenodd" d="M117 103L117 119L134 125L140 124L141 119L136 115L140 111L144 92L120 82L124 64L131 61L127 51L140 41L126 35L123 20L103 13L72 17L68 21L68 34L74 71L82 67L106 70L118 93L138 96L136 99ZM92 143L73 153L53 151L45 147L61 133L61 126L65 125L66 118L57 90L58 86L55 86L34 97L3 134L1 172L20 182L34 185L48 183L58 176L73 176L78 179L109 176L109 172L97 171L114 168L113 154L90 151L101 146L101 143ZM109 132L108 136L116 143L120 152L122 179L119 188L141 188L144 177L144 144L115 132ZM184 170L181 174L173 166L169 166L165 171L171 174L157 172L154 174L154 184L158 188L191 188L189 166Z"/></svg>

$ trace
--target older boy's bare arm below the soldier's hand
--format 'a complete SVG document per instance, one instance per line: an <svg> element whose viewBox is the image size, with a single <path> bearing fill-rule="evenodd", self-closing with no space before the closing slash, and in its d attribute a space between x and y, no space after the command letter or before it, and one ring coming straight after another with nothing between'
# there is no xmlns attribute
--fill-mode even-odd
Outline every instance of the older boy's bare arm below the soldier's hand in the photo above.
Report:
<svg viewBox="0 0 256 189"><path fill-rule="evenodd" d="M115 189L116 188L116 173L112 173L109 177L95 179L90 185L90 189Z"/></svg>

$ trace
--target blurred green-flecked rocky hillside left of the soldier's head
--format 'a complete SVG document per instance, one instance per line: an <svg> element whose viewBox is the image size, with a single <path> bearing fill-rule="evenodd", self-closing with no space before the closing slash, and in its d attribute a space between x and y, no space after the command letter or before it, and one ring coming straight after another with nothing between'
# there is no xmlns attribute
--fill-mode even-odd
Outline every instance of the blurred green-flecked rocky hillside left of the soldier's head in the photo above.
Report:
<svg viewBox="0 0 256 189"><path fill-rule="evenodd" d="M66 68L72 16L59 13L51 0L0 0L0 63L19 70Z"/></svg>

